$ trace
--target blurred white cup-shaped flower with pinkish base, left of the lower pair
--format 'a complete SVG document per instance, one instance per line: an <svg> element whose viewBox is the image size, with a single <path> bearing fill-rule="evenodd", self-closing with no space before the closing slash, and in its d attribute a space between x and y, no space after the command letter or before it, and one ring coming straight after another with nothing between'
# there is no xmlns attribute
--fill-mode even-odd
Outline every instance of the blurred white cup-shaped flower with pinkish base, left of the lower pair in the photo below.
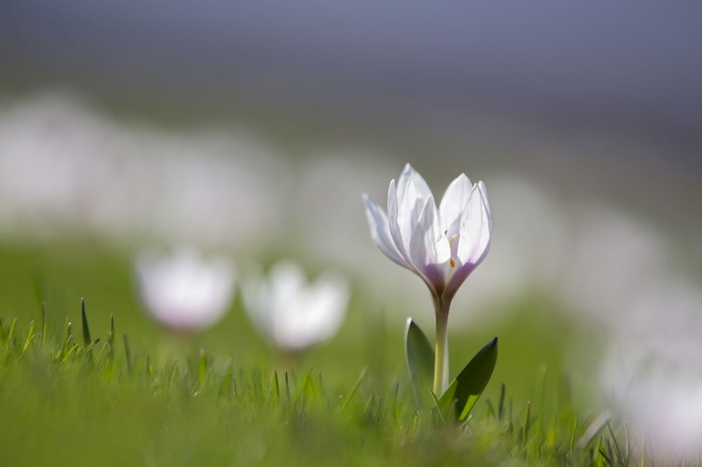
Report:
<svg viewBox="0 0 702 467"><path fill-rule="evenodd" d="M136 272L141 299L152 318L173 330L197 331L216 324L234 295L234 267L225 257L194 250L170 256L145 253Z"/></svg>

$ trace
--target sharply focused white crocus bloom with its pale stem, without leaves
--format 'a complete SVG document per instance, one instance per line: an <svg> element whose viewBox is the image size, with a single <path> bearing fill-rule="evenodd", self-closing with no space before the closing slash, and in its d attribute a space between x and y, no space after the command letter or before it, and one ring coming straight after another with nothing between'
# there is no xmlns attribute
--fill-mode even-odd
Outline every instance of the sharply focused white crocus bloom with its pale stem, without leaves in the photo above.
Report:
<svg viewBox="0 0 702 467"><path fill-rule="evenodd" d="M434 391L448 385L446 323L458 287L482 262L490 247L492 215L483 182L459 175L439 203L411 165L388 189L388 214L367 194L366 218L376 246L400 266L416 273L429 290L437 319Z"/></svg>

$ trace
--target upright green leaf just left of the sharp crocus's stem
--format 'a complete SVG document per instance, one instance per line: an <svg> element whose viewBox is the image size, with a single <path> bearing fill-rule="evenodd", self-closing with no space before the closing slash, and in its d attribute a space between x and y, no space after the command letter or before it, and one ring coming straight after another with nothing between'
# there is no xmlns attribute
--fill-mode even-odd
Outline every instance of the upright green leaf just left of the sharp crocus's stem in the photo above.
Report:
<svg viewBox="0 0 702 467"><path fill-rule="evenodd" d="M407 318L405 327L404 356L417 405L420 409L432 407L429 390L434 382L434 349L412 318Z"/></svg>

